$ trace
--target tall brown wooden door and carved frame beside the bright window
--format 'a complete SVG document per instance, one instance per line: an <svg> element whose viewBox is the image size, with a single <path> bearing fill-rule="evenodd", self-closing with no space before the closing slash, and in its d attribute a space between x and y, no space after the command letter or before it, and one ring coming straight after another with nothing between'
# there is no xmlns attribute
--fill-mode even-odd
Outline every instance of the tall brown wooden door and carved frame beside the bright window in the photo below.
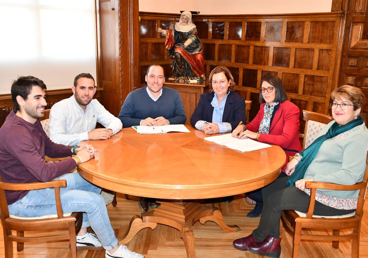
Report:
<svg viewBox="0 0 368 258"><path fill-rule="evenodd" d="M117 116L139 83L138 0L96 0L96 32L101 103Z"/></svg>

